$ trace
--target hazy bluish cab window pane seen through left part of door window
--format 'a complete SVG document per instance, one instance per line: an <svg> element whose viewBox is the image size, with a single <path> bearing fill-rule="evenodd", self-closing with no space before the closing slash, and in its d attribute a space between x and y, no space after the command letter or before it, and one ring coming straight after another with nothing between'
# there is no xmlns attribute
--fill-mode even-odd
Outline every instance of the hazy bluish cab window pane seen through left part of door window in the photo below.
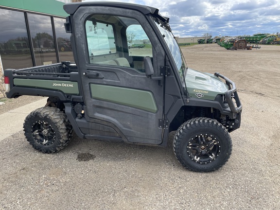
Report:
<svg viewBox="0 0 280 210"><path fill-rule="evenodd" d="M97 22L95 19L87 20L86 32L89 57L116 53L112 25Z"/></svg>

